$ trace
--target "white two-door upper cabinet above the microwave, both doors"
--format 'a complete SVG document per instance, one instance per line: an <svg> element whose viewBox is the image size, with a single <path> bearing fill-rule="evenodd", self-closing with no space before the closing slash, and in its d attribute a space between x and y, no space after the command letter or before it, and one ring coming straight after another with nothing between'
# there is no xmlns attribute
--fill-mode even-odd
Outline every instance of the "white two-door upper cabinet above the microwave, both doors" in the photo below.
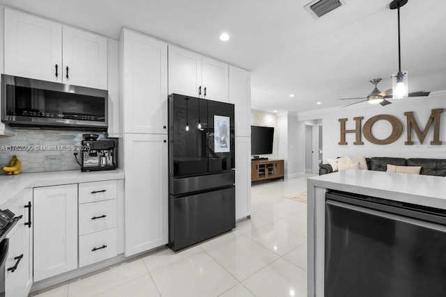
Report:
<svg viewBox="0 0 446 297"><path fill-rule="evenodd" d="M107 90L107 38L5 8L5 73Z"/></svg>

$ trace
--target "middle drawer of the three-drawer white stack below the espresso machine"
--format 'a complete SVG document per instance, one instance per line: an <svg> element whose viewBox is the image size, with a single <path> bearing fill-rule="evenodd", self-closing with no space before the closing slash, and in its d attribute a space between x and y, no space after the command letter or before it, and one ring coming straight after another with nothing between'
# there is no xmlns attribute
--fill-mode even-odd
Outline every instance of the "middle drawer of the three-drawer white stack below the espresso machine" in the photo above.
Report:
<svg viewBox="0 0 446 297"><path fill-rule="evenodd" d="M116 227L116 199L79 204L79 236Z"/></svg>

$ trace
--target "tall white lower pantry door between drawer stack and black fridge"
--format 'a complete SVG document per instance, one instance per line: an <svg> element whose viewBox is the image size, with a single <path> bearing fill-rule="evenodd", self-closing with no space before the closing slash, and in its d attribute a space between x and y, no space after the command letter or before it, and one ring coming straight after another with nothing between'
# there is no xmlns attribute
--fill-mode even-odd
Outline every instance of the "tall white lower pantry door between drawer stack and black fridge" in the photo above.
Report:
<svg viewBox="0 0 446 297"><path fill-rule="evenodd" d="M125 256L167 244L167 135L125 134Z"/></svg>

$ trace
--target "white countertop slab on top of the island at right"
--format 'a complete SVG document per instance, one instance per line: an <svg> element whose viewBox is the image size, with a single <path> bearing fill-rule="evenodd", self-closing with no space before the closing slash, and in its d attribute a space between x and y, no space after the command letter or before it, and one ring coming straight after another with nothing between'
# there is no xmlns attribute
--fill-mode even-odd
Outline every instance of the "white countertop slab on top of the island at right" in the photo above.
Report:
<svg viewBox="0 0 446 297"><path fill-rule="evenodd" d="M346 170L308 179L320 188L446 209L446 177Z"/></svg>

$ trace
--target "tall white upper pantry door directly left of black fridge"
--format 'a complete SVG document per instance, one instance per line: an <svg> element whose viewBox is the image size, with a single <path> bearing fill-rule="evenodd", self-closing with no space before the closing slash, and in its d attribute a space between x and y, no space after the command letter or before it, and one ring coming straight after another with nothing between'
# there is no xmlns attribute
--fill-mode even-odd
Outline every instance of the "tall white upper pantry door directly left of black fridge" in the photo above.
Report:
<svg viewBox="0 0 446 297"><path fill-rule="evenodd" d="M167 44L123 29L124 132L167 134Z"/></svg>

